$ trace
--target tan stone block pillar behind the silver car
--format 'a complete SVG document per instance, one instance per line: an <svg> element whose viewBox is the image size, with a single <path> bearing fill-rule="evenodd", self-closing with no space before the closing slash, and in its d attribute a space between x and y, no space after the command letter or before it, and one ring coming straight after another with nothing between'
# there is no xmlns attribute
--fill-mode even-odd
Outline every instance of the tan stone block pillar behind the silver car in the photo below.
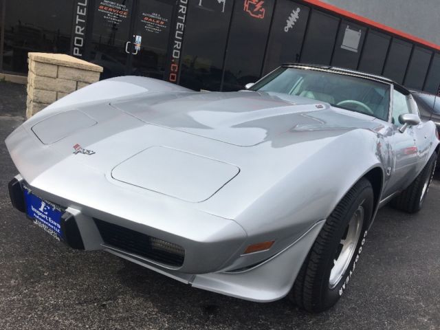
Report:
<svg viewBox="0 0 440 330"><path fill-rule="evenodd" d="M29 53L26 118L56 100L96 83L102 67L65 54Z"/></svg>

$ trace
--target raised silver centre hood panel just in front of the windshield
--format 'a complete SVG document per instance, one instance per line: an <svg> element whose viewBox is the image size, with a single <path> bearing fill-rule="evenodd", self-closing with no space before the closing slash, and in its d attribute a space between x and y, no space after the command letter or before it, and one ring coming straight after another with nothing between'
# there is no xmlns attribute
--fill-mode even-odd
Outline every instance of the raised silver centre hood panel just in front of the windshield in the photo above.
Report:
<svg viewBox="0 0 440 330"><path fill-rule="evenodd" d="M148 124L236 146L274 141L288 132L331 129L334 135L336 129L346 131L365 126L372 120L369 116L347 111L338 113L329 104L316 100L252 91L155 94L112 102L111 107ZM307 138L314 137L307 134Z"/></svg>

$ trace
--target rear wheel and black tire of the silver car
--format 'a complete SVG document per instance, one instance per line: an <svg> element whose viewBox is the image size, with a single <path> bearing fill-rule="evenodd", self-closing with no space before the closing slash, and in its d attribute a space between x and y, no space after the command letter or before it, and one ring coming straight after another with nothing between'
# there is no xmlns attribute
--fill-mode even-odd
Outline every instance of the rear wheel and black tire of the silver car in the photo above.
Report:
<svg viewBox="0 0 440 330"><path fill-rule="evenodd" d="M391 201L391 206L408 213L419 212L423 207L426 195L428 195L436 164L437 153L434 153L421 173L412 181L412 184Z"/></svg>

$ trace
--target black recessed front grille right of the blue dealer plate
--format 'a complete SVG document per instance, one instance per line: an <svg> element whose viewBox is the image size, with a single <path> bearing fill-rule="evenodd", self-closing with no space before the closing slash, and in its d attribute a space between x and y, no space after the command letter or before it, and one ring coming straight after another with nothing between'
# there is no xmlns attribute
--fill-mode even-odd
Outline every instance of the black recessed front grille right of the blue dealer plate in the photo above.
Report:
<svg viewBox="0 0 440 330"><path fill-rule="evenodd" d="M165 265L180 267L184 264L185 250L180 245L99 219L94 221L102 240L108 245Z"/></svg>

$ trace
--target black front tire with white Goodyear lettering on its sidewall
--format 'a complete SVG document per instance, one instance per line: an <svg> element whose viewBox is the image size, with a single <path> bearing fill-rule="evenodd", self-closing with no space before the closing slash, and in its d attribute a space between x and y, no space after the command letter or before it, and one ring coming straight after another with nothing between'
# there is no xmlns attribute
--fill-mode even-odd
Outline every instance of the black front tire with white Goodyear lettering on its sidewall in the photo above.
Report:
<svg viewBox="0 0 440 330"><path fill-rule="evenodd" d="M338 203L322 227L289 293L289 298L298 307L310 312L320 312L329 309L338 302L350 281L362 252L369 223L373 217L373 205L373 188L367 179L358 181ZM333 283L333 286L330 283L333 262L339 258L341 240L344 239L344 236L347 237L349 223L361 207L364 212L364 220L362 228L361 225L358 226L361 229L353 255L351 259L347 257L347 263L344 263L347 265L347 269L341 270L342 276L339 281L335 282L337 284Z"/></svg>

